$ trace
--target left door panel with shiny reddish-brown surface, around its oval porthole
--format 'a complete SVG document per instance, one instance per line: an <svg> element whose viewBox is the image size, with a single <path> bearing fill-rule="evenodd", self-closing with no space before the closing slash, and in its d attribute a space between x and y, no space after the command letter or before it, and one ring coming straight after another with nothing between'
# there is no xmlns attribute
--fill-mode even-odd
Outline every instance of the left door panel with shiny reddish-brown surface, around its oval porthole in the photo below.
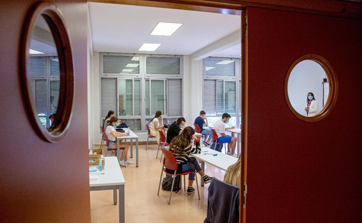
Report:
<svg viewBox="0 0 362 223"><path fill-rule="evenodd" d="M66 21L74 64L70 128L58 143L39 138L25 112L18 49L35 0L0 7L1 222L90 222L87 114L87 1L52 0Z"/></svg>

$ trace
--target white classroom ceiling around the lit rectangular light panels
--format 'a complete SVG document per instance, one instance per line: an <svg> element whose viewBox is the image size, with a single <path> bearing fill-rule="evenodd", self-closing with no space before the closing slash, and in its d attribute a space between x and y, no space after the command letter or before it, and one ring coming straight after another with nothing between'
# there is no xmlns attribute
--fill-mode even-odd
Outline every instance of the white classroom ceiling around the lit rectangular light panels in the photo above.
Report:
<svg viewBox="0 0 362 223"><path fill-rule="evenodd" d="M133 5L88 3L93 50L189 55L240 30L241 17L227 14ZM171 36L150 35L158 22L184 23ZM161 43L154 52L138 51L142 43ZM240 47L217 53L240 55Z"/></svg>

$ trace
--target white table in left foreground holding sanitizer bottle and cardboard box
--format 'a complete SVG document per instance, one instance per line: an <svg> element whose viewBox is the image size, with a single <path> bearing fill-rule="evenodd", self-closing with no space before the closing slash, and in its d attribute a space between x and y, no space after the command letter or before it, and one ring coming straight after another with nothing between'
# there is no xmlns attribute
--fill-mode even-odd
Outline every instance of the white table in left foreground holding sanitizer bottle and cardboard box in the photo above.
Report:
<svg viewBox="0 0 362 223"><path fill-rule="evenodd" d="M118 159L119 160L119 159ZM98 180L89 181L89 190L113 190L113 203L117 205L117 189L119 193L119 222L125 222L125 178L117 157L105 157L105 174L98 174Z"/></svg>

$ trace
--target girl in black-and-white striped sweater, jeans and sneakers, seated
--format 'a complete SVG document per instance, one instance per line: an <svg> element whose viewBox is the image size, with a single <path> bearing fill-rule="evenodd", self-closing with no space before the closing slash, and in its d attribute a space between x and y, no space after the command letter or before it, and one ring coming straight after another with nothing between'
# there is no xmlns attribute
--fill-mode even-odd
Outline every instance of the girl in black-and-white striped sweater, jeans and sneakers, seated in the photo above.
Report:
<svg viewBox="0 0 362 223"><path fill-rule="evenodd" d="M193 148L191 144L191 140L198 140L195 136L195 130L188 126L184 128L182 133L173 138L170 144L170 151L172 151L173 155L175 156L178 166L176 173L182 173L189 170L196 170L199 175L202 177L205 184L210 183L212 177L206 175L202 168L200 167L199 163L197 162L195 157L191 157L191 153L201 153L200 149L200 142L196 142L196 148ZM174 173L173 170L166 169L169 173ZM195 180L195 173L189 174L189 184L186 193L192 194L195 192L192 184Z"/></svg>

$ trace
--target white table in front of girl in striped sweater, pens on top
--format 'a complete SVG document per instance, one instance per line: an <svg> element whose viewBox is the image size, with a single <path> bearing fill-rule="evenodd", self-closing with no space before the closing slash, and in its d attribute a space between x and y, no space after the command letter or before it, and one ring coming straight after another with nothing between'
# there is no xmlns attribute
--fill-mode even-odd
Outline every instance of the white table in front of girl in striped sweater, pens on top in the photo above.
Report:
<svg viewBox="0 0 362 223"><path fill-rule="evenodd" d="M205 152L206 151L206 152ZM211 154L218 154L217 156L204 154L204 153L211 153ZM209 163L210 165L217 167L223 171L226 171L230 165L236 163L237 158L226 155L225 153L220 153L216 150L209 149L207 147L201 147L201 153L198 154L192 154L195 158L201 160L201 168L203 171L205 171L205 162ZM201 186L203 186L203 180L201 177Z"/></svg>

